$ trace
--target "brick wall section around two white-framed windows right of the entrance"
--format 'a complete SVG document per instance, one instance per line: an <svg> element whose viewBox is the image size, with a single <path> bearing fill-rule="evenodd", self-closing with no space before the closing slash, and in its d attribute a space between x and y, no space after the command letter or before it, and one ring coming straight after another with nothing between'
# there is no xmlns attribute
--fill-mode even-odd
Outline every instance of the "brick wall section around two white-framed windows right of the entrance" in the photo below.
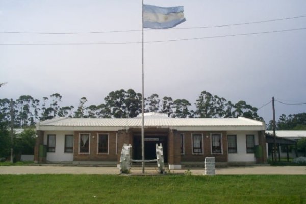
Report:
<svg viewBox="0 0 306 204"><path fill-rule="evenodd" d="M179 132L184 133L184 142L185 142L185 154L181 155L182 162L203 162L205 157L215 157L216 162L227 162L228 161L228 152L227 152L227 133L226 131L188 131L188 132ZM203 134L203 154L195 155L192 154L192 133L194 134ZM222 154L212 154L211 153L211 134L212 133L221 133L222 134ZM178 147L180 149L180 145Z"/></svg>

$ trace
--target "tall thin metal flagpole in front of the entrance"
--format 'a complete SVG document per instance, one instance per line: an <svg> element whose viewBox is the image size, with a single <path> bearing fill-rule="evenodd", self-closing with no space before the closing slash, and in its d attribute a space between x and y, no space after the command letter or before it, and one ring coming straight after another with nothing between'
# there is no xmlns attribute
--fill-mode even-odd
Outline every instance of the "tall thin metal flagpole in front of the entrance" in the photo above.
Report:
<svg viewBox="0 0 306 204"><path fill-rule="evenodd" d="M142 0L142 93L141 93L141 156L142 173L144 173L144 74L143 74L143 0Z"/></svg>

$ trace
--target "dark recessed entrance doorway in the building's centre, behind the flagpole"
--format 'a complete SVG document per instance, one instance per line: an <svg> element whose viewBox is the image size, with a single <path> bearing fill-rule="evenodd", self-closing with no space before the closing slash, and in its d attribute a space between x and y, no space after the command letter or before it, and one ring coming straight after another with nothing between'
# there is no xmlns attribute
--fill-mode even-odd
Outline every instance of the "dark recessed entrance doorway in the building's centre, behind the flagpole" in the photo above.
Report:
<svg viewBox="0 0 306 204"><path fill-rule="evenodd" d="M166 136L145 136L144 138L144 159L156 159L156 144L162 143L164 151L164 162L168 162L168 141ZM141 160L141 136L133 137L133 159Z"/></svg>

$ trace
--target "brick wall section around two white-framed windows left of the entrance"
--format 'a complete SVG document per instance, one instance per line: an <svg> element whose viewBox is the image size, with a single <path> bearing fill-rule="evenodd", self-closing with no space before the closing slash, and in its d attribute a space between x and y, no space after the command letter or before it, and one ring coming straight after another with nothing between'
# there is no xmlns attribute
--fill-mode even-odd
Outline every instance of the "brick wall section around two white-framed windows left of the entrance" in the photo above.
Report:
<svg viewBox="0 0 306 204"><path fill-rule="evenodd" d="M89 154L79 154L79 135L90 134ZM73 161L117 161L116 131L74 131ZM109 134L109 153L97 154L98 134Z"/></svg>

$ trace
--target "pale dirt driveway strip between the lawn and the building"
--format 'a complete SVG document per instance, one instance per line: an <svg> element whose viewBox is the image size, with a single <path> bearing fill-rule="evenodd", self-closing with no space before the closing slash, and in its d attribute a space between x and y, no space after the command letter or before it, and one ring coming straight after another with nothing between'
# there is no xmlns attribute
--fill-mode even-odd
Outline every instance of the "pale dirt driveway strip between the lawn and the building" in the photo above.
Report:
<svg viewBox="0 0 306 204"><path fill-rule="evenodd" d="M147 174L155 174L156 168L145 168ZM188 169L171 170L171 173L184 174ZM202 175L204 169L190 168L192 175ZM132 174L141 174L141 168L132 168ZM80 167L80 166L0 166L0 174L119 174L116 167ZM243 174L281 174L306 175L305 166L250 166L217 168L217 175Z"/></svg>

